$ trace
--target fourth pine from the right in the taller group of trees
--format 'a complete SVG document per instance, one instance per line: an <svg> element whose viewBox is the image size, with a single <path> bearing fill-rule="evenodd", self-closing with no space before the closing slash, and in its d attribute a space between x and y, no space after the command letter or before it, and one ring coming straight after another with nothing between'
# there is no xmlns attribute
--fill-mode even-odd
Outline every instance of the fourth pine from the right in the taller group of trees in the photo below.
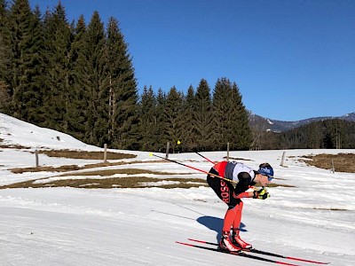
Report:
<svg viewBox="0 0 355 266"><path fill-rule="evenodd" d="M46 84L43 104L47 119L44 126L68 132L67 104L69 102L69 65L72 30L67 23L64 6L59 2L53 12L44 17ZM56 103L53 105L53 103Z"/></svg>

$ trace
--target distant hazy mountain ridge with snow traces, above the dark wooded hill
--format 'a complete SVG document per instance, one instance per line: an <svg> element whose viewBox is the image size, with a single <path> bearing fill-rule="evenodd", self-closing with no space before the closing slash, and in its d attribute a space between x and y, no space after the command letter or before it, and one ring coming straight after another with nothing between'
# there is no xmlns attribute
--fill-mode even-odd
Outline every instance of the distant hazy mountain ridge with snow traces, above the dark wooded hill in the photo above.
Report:
<svg viewBox="0 0 355 266"><path fill-rule="evenodd" d="M342 119L345 121L355 121L355 112L347 113L342 116L322 116L322 117L312 117L300 121L279 121L272 120L269 118L264 118L255 113L249 112L249 125L251 128L262 129L263 131L273 131L273 132L283 132L290 129L295 129L300 126L312 123L314 121L323 121L328 119Z"/></svg>

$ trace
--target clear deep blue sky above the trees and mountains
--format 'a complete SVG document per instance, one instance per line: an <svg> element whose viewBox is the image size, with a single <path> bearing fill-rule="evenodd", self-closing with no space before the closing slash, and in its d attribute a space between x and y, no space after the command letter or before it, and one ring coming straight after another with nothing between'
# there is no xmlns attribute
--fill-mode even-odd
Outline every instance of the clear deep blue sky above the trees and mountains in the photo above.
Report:
<svg viewBox="0 0 355 266"><path fill-rule="evenodd" d="M42 12L58 0L29 0ZM227 77L253 113L282 121L355 112L354 0L61 0L67 20L120 22L144 85L213 90Z"/></svg>

